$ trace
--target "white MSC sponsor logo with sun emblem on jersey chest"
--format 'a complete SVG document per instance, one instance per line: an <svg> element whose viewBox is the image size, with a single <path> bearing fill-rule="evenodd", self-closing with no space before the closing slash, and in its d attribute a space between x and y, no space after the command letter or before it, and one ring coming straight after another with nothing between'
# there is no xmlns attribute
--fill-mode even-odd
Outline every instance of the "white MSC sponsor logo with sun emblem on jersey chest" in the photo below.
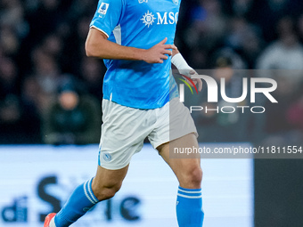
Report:
<svg viewBox="0 0 303 227"><path fill-rule="evenodd" d="M160 24L176 24L178 20L178 12L156 12L157 17L154 14L147 11L143 15L143 24L150 28L150 26L157 20L157 25Z"/></svg>

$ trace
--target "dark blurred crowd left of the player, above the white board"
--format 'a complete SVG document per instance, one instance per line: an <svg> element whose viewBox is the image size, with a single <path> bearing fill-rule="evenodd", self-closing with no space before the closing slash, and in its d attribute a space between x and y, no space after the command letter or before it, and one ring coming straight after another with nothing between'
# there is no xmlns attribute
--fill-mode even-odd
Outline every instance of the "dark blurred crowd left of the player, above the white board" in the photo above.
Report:
<svg viewBox="0 0 303 227"><path fill-rule="evenodd" d="M105 69L102 61L86 58L84 49L96 4L94 0L0 1L1 143L60 143L54 139L52 130L61 132L61 138L65 138L62 143L99 141L100 123L94 131L96 136L90 137L93 140L78 142L72 138L75 128L63 130L60 121L64 123L64 118L49 115L60 101L62 86L66 83L81 86L74 90L81 90L78 95L92 97L90 100L99 107L95 113L100 112ZM91 129L84 126L91 124L87 124L87 116L81 114L78 109L72 115L67 113L76 117L65 124L79 126L76 131L88 132ZM53 123L51 130L48 122L54 120L57 124Z"/></svg>

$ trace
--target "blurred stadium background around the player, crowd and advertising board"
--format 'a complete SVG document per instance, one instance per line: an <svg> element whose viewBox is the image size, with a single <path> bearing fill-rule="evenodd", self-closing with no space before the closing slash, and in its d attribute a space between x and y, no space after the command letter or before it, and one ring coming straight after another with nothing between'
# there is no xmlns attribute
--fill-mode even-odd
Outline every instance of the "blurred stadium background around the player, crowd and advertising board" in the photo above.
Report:
<svg viewBox="0 0 303 227"><path fill-rule="evenodd" d="M84 44L96 4L96 0L0 0L0 226L41 226L40 218L60 207L72 186L94 174L97 145L86 143L95 144L100 137L100 118L94 116L100 116L105 68L102 61L86 58ZM302 146L302 42L301 0L184 0L176 45L192 68L286 70L274 75L278 105L264 103L266 113L258 118L245 114L228 121L203 116L196 121L201 142ZM231 91L236 90L234 85L237 77L231 79ZM56 115L61 114L58 103L64 91L78 93L83 109L89 109L80 120L73 118L76 128L62 127ZM95 121L84 130L86 118ZM154 222L152 226L176 226L174 211L169 210L174 206L168 205L174 201L176 182L150 150L146 144L134 158L133 172L117 200L96 208L101 217L92 214L87 217L90 223L78 226L150 226L144 218ZM46 163L44 157L52 154L58 158ZM146 177L140 175L144 160L150 162ZM301 159L202 160L207 213L209 209L205 227L303 226L302 164ZM163 204L153 207L151 187L159 190L163 182L168 182L165 194L152 198ZM132 184L140 185L140 190L134 192ZM140 202L141 223L119 223L126 216L135 218L137 210L132 207ZM118 221L111 221L115 218Z"/></svg>

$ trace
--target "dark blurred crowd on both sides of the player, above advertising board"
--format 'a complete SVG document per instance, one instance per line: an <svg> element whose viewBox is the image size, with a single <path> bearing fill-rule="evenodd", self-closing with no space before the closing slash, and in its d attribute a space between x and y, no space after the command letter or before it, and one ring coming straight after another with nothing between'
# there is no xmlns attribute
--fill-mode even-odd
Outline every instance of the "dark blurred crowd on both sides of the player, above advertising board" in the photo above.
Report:
<svg viewBox="0 0 303 227"><path fill-rule="evenodd" d="M96 5L97 0L0 1L0 143L98 142L100 120L88 122L101 118L106 69L84 49ZM266 113L258 116L199 116L201 140L302 141L302 42L301 0L183 1L176 46L192 68L225 69L234 97L243 75L228 69L277 72L263 77L277 81L278 104L261 101ZM64 99L64 91L75 96Z"/></svg>

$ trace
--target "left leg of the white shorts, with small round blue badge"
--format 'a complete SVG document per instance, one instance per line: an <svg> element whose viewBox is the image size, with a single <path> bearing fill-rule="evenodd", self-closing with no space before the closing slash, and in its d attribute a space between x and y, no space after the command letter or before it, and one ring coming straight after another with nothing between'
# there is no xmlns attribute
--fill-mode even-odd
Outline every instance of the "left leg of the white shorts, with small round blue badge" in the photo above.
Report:
<svg viewBox="0 0 303 227"><path fill-rule="evenodd" d="M121 169L127 166L143 147L152 128L151 111L134 109L103 100L103 124L99 149L99 166Z"/></svg>

